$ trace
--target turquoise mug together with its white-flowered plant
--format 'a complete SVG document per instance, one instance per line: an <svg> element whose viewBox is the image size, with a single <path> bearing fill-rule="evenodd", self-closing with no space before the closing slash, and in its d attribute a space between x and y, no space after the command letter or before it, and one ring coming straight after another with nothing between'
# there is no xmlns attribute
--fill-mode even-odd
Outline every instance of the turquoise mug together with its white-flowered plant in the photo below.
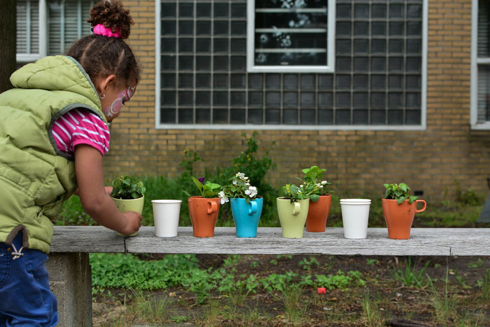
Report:
<svg viewBox="0 0 490 327"><path fill-rule="evenodd" d="M222 204L230 201L236 236L257 237L263 198L257 196L257 188L250 185L244 173L238 172L230 180L231 184L223 186L218 196Z"/></svg>

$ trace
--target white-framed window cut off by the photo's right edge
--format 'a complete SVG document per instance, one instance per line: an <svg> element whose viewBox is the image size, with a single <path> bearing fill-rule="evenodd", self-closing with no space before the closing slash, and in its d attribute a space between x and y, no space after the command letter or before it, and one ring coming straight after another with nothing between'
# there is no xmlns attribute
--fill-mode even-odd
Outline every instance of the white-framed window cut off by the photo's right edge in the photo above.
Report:
<svg viewBox="0 0 490 327"><path fill-rule="evenodd" d="M471 125L490 129L490 3L473 0Z"/></svg>

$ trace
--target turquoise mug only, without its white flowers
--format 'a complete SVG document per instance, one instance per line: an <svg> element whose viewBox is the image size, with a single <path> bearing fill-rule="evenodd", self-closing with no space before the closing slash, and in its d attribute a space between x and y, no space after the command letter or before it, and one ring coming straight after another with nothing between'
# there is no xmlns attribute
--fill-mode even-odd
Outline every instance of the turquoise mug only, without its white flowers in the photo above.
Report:
<svg viewBox="0 0 490 327"><path fill-rule="evenodd" d="M231 198L231 214L235 222L237 237L257 237L260 215L264 199L256 198L247 203L246 199Z"/></svg>

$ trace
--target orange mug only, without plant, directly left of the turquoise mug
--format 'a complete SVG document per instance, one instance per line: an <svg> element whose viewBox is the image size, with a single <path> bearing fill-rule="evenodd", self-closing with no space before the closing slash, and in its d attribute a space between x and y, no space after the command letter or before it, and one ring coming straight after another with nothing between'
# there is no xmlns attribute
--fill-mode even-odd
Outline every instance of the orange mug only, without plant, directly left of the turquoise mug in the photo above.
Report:
<svg viewBox="0 0 490 327"><path fill-rule="evenodd" d="M188 198L192 233L195 237L213 237L219 213L219 198Z"/></svg>

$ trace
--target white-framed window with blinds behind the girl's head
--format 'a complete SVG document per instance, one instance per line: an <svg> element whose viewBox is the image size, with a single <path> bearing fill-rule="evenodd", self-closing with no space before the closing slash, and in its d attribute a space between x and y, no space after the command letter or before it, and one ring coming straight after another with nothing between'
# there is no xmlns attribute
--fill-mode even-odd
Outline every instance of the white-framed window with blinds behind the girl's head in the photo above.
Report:
<svg viewBox="0 0 490 327"><path fill-rule="evenodd" d="M17 61L63 54L91 33L90 8L95 1L17 0Z"/></svg>

